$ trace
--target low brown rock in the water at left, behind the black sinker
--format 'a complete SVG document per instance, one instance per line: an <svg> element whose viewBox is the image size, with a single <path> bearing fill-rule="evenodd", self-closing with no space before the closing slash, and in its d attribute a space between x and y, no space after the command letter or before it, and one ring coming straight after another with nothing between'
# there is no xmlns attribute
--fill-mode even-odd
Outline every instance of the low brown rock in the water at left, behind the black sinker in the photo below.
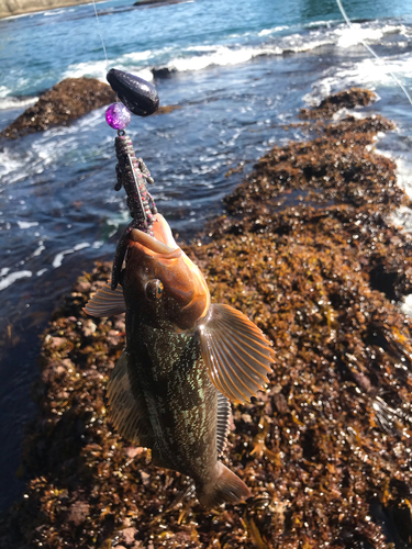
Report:
<svg viewBox="0 0 412 549"><path fill-rule="evenodd" d="M88 112L114 101L116 96L111 87L96 78L66 78L41 94L33 107L0 133L0 137L16 139L53 126L66 126ZM180 107L160 107L156 114L166 114L175 109Z"/></svg>

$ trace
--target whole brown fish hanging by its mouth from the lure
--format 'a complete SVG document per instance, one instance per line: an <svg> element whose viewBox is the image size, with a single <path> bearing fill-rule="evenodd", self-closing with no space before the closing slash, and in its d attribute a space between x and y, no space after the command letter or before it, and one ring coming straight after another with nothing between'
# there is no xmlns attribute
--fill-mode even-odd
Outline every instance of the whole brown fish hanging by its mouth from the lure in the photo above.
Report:
<svg viewBox="0 0 412 549"><path fill-rule="evenodd" d="M126 312L126 349L108 386L109 418L155 466L194 480L212 507L249 497L221 461L231 406L267 381L274 350L261 330L229 305L211 304L199 268L156 215L152 237L130 235L121 285L99 290L86 306L94 316Z"/></svg>

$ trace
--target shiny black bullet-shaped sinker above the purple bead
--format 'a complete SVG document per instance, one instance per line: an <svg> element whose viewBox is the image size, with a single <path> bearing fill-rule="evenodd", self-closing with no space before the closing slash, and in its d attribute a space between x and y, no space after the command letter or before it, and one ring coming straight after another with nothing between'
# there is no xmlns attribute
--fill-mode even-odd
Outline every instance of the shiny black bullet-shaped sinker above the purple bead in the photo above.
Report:
<svg viewBox="0 0 412 549"><path fill-rule="evenodd" d="M138 76L110 69L108 82L127 109L138 116L148 116L157 111L159 97L156 88Z"/></svg>

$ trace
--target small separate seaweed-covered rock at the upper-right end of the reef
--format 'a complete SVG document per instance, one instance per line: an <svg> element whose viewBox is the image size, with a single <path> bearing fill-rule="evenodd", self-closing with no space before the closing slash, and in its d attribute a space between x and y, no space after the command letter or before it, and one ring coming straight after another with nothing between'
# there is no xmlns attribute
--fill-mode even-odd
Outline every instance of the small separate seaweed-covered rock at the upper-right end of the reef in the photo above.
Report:
<svg viewBox="0 0 412 549"><path fill-rule="evenodd" d="M332 119L335 112L341 109L355 109L355 107L366 107L376 101L376 94L363 88L350 88L329 96L318 107L313 109L301 109L301 119Z"/></svg>

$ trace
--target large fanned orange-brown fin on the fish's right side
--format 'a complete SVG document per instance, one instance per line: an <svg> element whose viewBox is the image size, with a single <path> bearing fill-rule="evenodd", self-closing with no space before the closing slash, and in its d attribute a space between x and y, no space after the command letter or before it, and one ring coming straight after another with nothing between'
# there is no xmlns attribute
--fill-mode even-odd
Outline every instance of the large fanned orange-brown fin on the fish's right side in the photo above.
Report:
<svg viewBox="0 0 412 549"><path fill-rule="evenodd" d="M274 349L263 332L230 305L213 304L199 326L202 358L212 383L234 402L249 401L268 381Z"/></svg>

